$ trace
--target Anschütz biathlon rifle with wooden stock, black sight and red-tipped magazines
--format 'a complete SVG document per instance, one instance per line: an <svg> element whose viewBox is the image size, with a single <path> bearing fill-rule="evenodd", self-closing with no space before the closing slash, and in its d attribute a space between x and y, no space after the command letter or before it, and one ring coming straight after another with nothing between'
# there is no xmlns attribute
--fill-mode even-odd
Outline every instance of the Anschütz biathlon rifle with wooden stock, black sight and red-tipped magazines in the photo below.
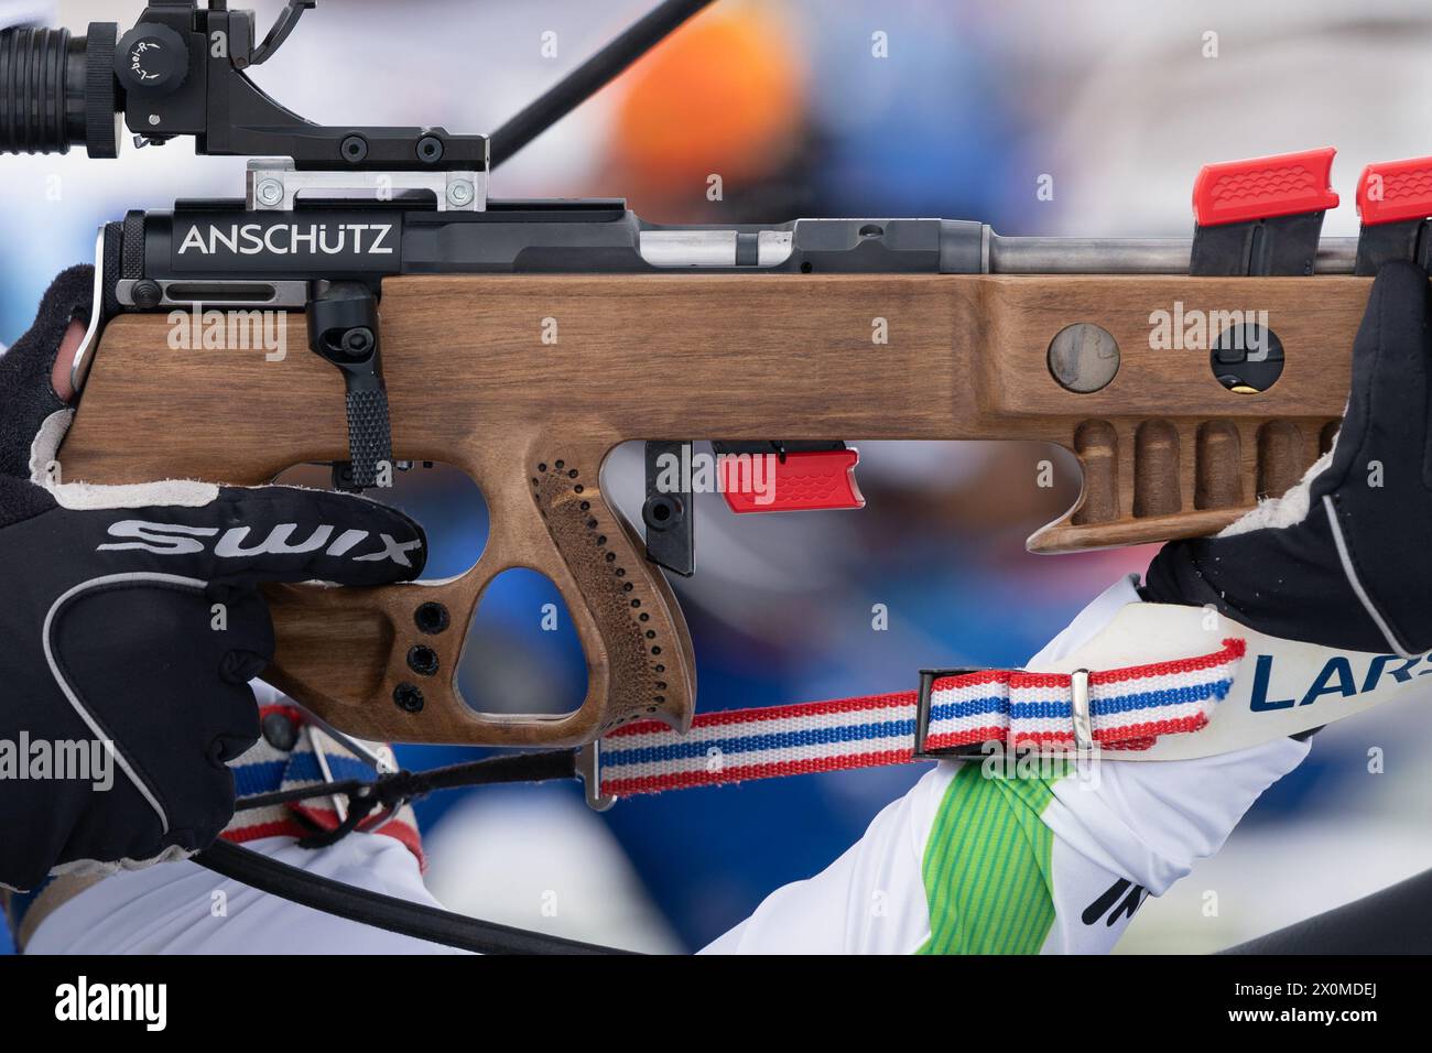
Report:
<svg viewBox="0 0 1432 1053"><path fill-rule="evenodd" d="M312 1L262 42L221 0L152 3L123 36L0 34L0 152L112 158L123 120L140 143L255 158L243 199L103 228L67 480L262 484L316 461L365 490L444 461L487 497L487 550L457 579L271 590L266 676L338 728L501 746L684 728L695 663L663 570L695 569L693 494L660 466L697 438L722 464L772 464L769 503L727 493L740 511L859 507L845 438L1017 438L1084 473L1032 552L1216 532L1329 448L1369 275L1428 264L1432 159L1369 166L1360 236L1320 239L1332 149L1204 168L1191 239L667 226L621 201L488 196L495 165L706 3L660 4L491 138L325 128L266 96L246 70ZM291 312L312 354L178 354L176 309ZM601 491L629 440L647 444L644 539ZM473 612L510 567L547 574L574 619L589 686L569 715L480 713L455 688Z"/></svg>

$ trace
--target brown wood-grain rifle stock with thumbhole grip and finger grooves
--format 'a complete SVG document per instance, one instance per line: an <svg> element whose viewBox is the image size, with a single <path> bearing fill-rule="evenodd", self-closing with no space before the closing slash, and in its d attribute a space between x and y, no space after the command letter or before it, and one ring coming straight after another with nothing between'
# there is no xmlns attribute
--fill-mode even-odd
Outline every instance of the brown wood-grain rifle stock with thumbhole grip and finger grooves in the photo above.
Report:
<svg viewBox="0 0 1432 1053"><path fill-rule="evenodd" d="M1292 486L1326 450L1350 383L1370 279L1074 275L498 275L384 282L394 454L467 471L491 510L478 564L444 583L272 590L266 675L338 728L374 739L576 745L617 723L690 719L695 663L680 610L642 542L601 497L627 440L1057 443L1084 471L1075 506L1030 539L1077 552L1211 533ZM1176 308L1176 305L1179 305ZM1207 345L1154 350L1156 312L1264 312L1286 365L1240 394ZM1191 315L1189 315L1191 317ZM558 342L544 344L554 318ZM872 342L884 318L888 342ZM188 314L185 315L188 324ZM1050 344L1093 322L1117 341L1088 394L1051 375ZM262 484L347 456L342 381L302 341L172 351L165 314L112 321L62 450L67 480ZM301 332L299 315L289 322ZM1176 337L1179 334L1174 334ZM1209 335L1216 337L1217 332ZM1197 344L1197 341L1194 341ZM468 620L508 567L547 574L586 652L581 709L471 711L453 683ZM417 607L454 612L441 633ZM407 655L440 672L408 712Z"/></svg>

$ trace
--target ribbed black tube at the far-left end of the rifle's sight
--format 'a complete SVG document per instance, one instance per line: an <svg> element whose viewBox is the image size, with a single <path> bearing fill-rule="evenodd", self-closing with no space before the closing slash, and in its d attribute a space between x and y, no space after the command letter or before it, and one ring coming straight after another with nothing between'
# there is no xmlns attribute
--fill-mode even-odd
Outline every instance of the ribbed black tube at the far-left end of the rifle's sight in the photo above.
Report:
<svg viewBox="0 0 1432 1053"><path fill-rule="evenodd" d="M0 153L119 152L123 95L115 74L119 27L0 30Z"/></svg>

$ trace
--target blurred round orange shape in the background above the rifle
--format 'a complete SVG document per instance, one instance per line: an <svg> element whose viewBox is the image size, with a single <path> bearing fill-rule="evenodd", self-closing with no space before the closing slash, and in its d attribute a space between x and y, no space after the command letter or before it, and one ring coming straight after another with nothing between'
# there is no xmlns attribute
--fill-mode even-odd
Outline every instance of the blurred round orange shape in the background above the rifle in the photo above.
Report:
<svg viewBox="0 0 1432 1053"><path fill-rule="evenodd" d="M805 113L795 34L773 3L713 7L617 82L613 160L649 188L778 172Z"/></svg>

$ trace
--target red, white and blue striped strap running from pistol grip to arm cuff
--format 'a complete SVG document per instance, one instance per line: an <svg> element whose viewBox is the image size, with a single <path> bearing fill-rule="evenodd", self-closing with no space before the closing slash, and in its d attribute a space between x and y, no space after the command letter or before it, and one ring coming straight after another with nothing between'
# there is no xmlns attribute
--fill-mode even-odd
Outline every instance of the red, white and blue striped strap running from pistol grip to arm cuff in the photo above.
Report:
<svg viewBox="0 0 1432 1053"><path fill-rule="evenodd" d="M1209 723L1233 686L1246 645L1151 665L1088 673L1090 736L1100 749L1148 749L1163 735ZM942 676L929 696L924 754L1002 742L1070 752L1075 691L1070 673L990 669ZM908 764L915 756L918 692L702 713L682 735L643 722L601 739L600 794L632 797L776 775ZM924 758L919 758L924 759Z"/></svg>

